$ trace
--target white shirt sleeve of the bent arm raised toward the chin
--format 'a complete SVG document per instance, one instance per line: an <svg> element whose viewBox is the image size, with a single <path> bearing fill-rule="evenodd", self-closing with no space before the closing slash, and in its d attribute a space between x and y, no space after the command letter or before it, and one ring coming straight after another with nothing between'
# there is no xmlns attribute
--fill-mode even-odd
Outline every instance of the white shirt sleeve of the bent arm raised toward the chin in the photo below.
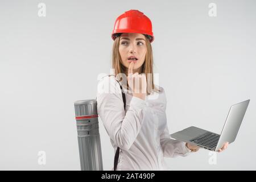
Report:
<svg viewBox="0 0 256 182"><path fill-rule="evenodd" d="M141 130L145 101L132 97L125 113L121 88L114 77L105 77L98 83L96 100L98 115L110 139L119 148L129 150Z"/></svg>

